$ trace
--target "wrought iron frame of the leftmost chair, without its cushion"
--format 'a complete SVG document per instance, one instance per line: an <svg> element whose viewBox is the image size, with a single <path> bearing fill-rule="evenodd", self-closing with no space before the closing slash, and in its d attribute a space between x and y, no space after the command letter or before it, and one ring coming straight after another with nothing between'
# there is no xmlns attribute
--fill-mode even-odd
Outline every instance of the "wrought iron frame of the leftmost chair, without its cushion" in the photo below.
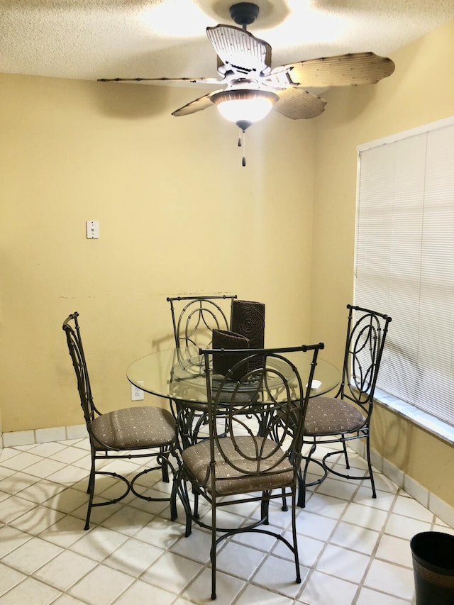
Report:
<svg viewBox="0 0 454 605"><path fill-rule="evenodd" d="M80 333L78 317L79 317L79 313L77 311L75 311L74 313L72 313L70 316L68 316L65 319L65 321L63 322L62 328L66 333L67 345L68 345L68 348L70 351L70 357L72 360L72 365L74 367L74 372L76 373L76 377L77 377L77 390L79 392L80 403L82 406L82 411L84 413L85 423L87 425L87 432L89 435L90 452L91 452L91 459L92 459L92 464L91 464L90 474L89 474L89 482L88 482L88 487L87 487L87 494L89 494L89 503L88 503L88 508L87 508L87 517L85 520L84 529L86 529L86 530L89 529L90 516L92 514L93 508L95 508L96 506L106 506L108 504L116 504L117 502L123 500L123 498L125 498L129 494L129 492L132 492L138 498L141 498L141 499L144 499L147 501L169 501L171 518L172 518L172 520L175 520L175 518L177 518L177 505L176 505L175 495L173 494L173 490L172 490L172 495L167 496L167 497L160 498L160 497L145 496L143 494L140 494L140 492L138 492L135 489L135 482L140 477L143 477L145 474L148 474L148 472L151 472L151 471L157 470L157 469L161 470L162 480L166 483L169 482L169 469L172 470L172 474L174 474L174 476L175 476L176 469L175 469L175 466L172 465L172 462L170 462L170 455L175 456L176 460L178 462L177 450L175 448L176 433L174 432L174 435L172 436L171 439L162 441L162 443L155 443L154 445L147 445L147 446L140 445L140 447L138 447L138 448L128 447L127 449L112 447L112 445L109 445L109 443L103 442L100 439L99 435L96 435L96 436L94 435L93 430L92 430L92 424L96 420L96 418L103 416L103 413L101 413L101 411L99 411L99 409L97 409L94 404L94 400L93 400L93 396L92 396L92 387L90 384L89 372L87 369L87 361L85 359L84 347L82 345L82 336ZM74 328L71 325L71 322L74 322ZM132 413L138 413L137 408L134 408L132 410L133 410ZM160 415L162 414L165 419L168 418L170 420L170 418L172 418L172 416L170 416L170 413L165 410L160 410L160 409L155 409L155 410ZM122 412L128 412L128 411L129 411L129 409L126 408L123 410L119 410L117 412L122 413ZM152 413L154 413L154 412L152 411ZM109 413L105 414L104 416L107 416L108 414ZM167 416L167 414L169 416ZM172 421L173 421L173 418L172 418ZM121 453L121 452L124 452L124 453ZM115 459L130 460L131 458L145 458L145 457L148 457L148 458L155 457L156 465L153 467L148 467L145 470L140 471L131 480L127 479L126 477L123 477L123 475L118 474L116 472L96 470L96 461L97 460L105 461L107 458L109 460L115 460ZM94 487L95 487L96 475L109 475L116 479L120 479L121 482L123 482L125 484L125 489L124 489L123 494L121 494L120 496L118 496L114 499L108 500L108 501L94 502Z"/></svg>

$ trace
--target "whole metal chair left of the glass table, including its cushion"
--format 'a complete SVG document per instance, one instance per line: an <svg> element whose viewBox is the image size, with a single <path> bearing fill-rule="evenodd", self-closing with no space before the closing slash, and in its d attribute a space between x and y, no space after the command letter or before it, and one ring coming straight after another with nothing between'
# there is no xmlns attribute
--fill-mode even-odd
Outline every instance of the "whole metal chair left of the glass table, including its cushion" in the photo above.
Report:
<svg viewBox="0 0 454 605"><path fill-rule="evenodd" d="M175 418L170 411L153 406L128 407L107 413L101 413L96 409L93 402L92 388L90 387L78 317L79 313L77 311L72 313L65 319L62 327L66 333L67 345L76 373L77 389L84 411L92 453L92 467L87 488L89 503L85 529L89 528L90 515L94 506L114 504L127 496L130 491L135 496L148 501L170 501L173 520L177 518L175 495L163 498L145 496L135 489L135 482L139 477L157 469L162 472L162 480L169 482L169 468L172 472L175 471L169 459L171 454L175 454ZM156 465L142 470L132 479L127 479L116 472L96 470L97 460L105 462L106 459L140 457L155 457ZM126 486L124 492L115 499L94 502L95 477L97 475L110 475L121 480ZM172 490L173 492L174 490Z"/></svg>

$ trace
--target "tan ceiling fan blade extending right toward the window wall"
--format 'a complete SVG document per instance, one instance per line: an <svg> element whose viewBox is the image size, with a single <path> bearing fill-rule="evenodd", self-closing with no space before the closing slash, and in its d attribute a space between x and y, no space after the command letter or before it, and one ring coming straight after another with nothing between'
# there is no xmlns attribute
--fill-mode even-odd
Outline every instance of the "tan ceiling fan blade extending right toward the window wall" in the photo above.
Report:
<svg viewBox="0 0 454 605"><path fill-rule="evenodd" d="M306 88L375 84L394 72L394 62L373 52L309 59L284 65L292 82ZM281 68L277 67L276 71ZM274 70L273 70L274 71Z"/></svg>

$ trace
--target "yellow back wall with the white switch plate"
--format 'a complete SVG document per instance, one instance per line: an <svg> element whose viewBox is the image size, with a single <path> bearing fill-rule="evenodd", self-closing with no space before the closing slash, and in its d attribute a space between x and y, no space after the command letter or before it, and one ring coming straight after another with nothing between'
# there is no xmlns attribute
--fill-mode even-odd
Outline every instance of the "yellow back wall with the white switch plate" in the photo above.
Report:
<svg viewBox="0 0 454 605"><path fill-rule="evenodd" d="M170 115L200 89L6 74L0 88L4 432L82 423L73 311L104 410L131 401L131 361L172 346L166 296L263 301L267 345L308 342L313 121L273 112L244 168L214 108Z"/></svg>

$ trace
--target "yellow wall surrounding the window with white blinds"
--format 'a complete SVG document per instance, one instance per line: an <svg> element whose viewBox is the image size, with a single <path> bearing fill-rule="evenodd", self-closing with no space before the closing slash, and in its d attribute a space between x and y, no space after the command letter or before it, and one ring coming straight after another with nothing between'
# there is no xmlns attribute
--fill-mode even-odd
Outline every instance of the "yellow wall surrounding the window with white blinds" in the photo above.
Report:
<svg viewBox="0 0 454 605"><path fill-rule="evenodd" d="M341 359L345 304L353 292L356 148L454 114L454 78L447 69L454 61L454 22L391 58L396 70L379 84L329 91L317 122L311 328L313 338L326 335L323 353L333 362ZM448 471L454 448L378 407L372 421L373 448L454 506Z"/></svg>

